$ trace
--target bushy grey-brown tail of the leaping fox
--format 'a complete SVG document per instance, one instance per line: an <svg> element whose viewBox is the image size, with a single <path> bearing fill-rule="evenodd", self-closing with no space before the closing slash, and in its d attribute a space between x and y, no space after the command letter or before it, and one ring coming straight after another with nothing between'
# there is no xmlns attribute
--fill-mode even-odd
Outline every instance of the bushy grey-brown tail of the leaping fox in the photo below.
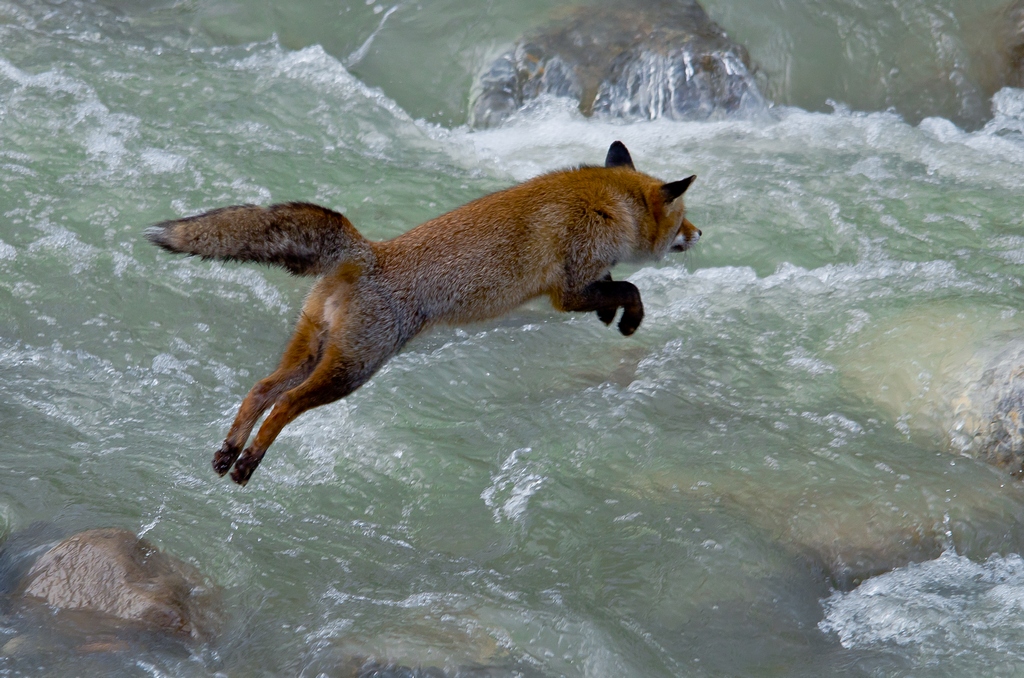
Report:
<svg viewBox="0 0 1024 678"><path fill-rule="evenodd" d="M309 203L222 207L158 223L145 235L171 252L273 264L296 276L319 276L342 261L370 264L374 256L344 215Z"/></svg>

